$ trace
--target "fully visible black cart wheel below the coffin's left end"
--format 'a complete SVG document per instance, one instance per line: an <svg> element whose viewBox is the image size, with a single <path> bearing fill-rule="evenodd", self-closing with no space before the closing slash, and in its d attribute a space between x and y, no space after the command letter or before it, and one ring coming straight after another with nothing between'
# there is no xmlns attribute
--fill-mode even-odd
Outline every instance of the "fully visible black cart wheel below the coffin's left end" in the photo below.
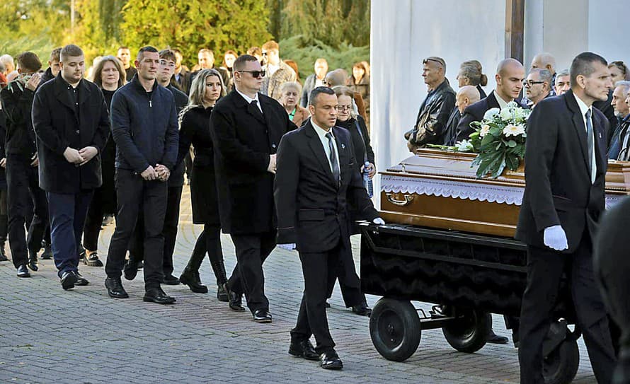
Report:
<svg viewBox="0 0 630 384"><path fill-rule="evenodd" d="M405 361L420 344L420 318L410 301L381 298L370 316L370 337L387 360Z"/></svg>

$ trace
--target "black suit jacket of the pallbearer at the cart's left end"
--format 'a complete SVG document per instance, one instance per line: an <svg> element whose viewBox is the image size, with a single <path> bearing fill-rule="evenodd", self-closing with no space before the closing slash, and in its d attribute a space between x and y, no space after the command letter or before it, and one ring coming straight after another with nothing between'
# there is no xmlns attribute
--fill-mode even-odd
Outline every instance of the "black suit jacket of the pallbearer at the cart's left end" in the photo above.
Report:
<svg viewBox="0 0 630 384"><path fill-rule="evenodd" d="M356 204L362 219L378 216L357 171L350 132L333 127L333 136L339 152L340 187L310 120L282 137L274 188L278 244L295 243L300 252L312 253L331 250L340 240L349 241L348 200Z"/></svg>

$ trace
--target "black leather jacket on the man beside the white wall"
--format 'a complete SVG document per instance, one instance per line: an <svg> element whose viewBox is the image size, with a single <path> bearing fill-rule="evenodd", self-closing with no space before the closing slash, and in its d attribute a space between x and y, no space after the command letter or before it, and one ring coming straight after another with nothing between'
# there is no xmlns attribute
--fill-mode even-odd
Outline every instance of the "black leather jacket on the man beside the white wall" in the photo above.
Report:
<svg viewBox="0 0 630 384"><path fill-rule="evenodd" d="M455 105L455 91L447 79L430 91L420 105L416 127L405 134L410 151L422 148L426 144L442 144L446 124Z"/></svg>

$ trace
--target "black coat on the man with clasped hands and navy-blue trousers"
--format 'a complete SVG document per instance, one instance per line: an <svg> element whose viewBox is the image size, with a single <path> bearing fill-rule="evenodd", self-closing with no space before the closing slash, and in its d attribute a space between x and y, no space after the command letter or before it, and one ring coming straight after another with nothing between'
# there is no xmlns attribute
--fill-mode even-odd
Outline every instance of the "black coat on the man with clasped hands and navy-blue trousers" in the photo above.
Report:
<svg viewBox="0 0 630 384"><path fill-rule="evenodd" d="M38 138L40 187L47 192L76 193L101 186L101 151L110 127L107 105L96 84L83 79L77 89L78 106L73 105L68 83L59 72L35 93L33 128ZM86 146L96 147L98 154L85 165L78 167L64 158L67 147Z"/></svg>

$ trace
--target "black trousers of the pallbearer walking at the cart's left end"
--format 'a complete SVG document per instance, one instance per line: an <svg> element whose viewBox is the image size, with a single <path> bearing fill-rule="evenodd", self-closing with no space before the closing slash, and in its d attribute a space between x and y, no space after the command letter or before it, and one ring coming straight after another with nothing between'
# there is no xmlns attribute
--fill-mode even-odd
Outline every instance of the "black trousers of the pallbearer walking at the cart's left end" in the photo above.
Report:
<svg viewBox="0 0 630 384"><path fill-rule="evenodd" d="M304 274L304 295L297 313L297 324L291 330L291 340L309 339L315 336L315 350L321 354L335 347L328 329L326 294L332 291L338 273L338 265L344 252L352 252L343 240L327 252L299 252Z"/></svg>

